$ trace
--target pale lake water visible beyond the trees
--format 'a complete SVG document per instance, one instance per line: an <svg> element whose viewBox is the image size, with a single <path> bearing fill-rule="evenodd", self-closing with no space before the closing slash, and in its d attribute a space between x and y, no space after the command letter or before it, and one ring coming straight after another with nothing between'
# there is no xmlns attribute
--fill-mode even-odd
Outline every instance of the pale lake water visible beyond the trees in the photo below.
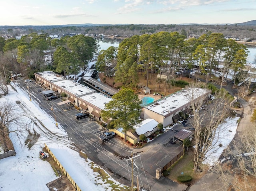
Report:
<svg viewBox="0 0 256 191"><path fill-rule="evenodd" d="M118 47L120 42L122 42L122 40L120 40L120 39L118 39L118 40L114 40L114 39L98 40L98 43L100 45L99 51L106 50L110 46ZM255 55L256 55L256 45L246 45L246 47L248 48L248 51L249 51L248 57L247 57L247 63L253 63Z"/></svg>

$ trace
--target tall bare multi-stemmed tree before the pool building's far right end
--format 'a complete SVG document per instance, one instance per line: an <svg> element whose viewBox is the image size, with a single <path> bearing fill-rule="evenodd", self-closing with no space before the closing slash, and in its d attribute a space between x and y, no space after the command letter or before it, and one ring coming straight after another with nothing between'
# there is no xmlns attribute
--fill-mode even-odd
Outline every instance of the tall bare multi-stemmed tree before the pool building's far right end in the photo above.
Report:
<svg viewBox="0 0 256 191"><path fill-rule="evenodd" d="M214 99L207 100L205 93L208 90L198 87L202 87L202 84L191 85L187 96L194 115L191 122L195 128L194 171L202 167L202 162L213 152L217 152L217 141L213 142L213 140L219 138L218 126L228 113L226 91L218 91Z"/></svg>

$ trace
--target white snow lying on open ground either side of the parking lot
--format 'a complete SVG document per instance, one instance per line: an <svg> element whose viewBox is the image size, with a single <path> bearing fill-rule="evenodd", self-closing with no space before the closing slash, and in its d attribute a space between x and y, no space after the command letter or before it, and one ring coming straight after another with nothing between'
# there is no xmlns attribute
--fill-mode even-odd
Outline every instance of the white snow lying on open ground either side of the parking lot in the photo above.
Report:
<svg viewBox="0 0 256 191"><path fill-rule="evenodd" d="M20 89L18 83L16 83L16 89L17 92L13 91L9 87L9 94L0 98L0 104L6 101L14 102L16 105L14 108L16 110L16 114L20 116L20 119L25 124L27 124L27 126L23 127L28 128L30 132L37 132L40 134L40 137L29 150L24 144L28 132L23 132L25 136L20 141L16 134L10 134L10 139L14 144L17 154L16 156L0 160L0 190L49 190L46 183L49 183L58 177L47 162L47 159L42 160L39 157L39 151L42 150L44 143L46 143L82 190L110 191L111 187L109 187L108 183L99 178L99 174L92 170L94 167L100 167L90 161L90 159L81 158L79 153L72 149L73 142L68 138L67 132L60 123L58 124L58 128L55 126L54 118L48 115L38 105L39 100L36 100L32 94L32 101L30 102L27 90ZM17 100L20 101L19 105L22 108L16 104ZM215 139L214 143L216 145L222 144L223 146L222 148L217 147L218 152L209 152L210 156L205 163L213 165L218 161L220 154L224 148L228 146L236 133L237 121L237 117L227 119L224 124L219 126L219 130L217 131L219 138ZM44 126L42 126L42 124ZM169 129L170 128L165 128L165 131ZM2 152L3 149L0 147L0 153ZM48 153L46 154L48 155ZM70 161L72 161L72 163L70 163ZM108 180L118 185L120 190L124 187L124 185L115 181L111 177L109 177Z"/></svg>

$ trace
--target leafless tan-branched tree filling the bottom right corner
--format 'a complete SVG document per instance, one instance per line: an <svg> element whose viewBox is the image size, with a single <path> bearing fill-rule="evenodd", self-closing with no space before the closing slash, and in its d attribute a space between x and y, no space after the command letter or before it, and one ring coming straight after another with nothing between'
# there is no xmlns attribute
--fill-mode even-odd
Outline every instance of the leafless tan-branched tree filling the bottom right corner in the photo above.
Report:
<svg viewBox="0 0 256 191"><path fill-rule="evenodd" d="M256 124L241 132L224 152L224 159L212 170L233 190L256 189Z"/></svg>

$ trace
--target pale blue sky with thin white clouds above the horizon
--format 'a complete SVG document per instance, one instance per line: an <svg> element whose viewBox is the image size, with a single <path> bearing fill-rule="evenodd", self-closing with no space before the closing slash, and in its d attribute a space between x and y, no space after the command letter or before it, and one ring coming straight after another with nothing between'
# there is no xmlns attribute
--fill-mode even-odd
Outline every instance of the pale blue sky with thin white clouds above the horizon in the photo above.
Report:
<svg viewBox="0 0 256 191"><path fill-rule="evenodd" d="M256 0L9 0L0 26L234 24L256 20Z"/></svg>

